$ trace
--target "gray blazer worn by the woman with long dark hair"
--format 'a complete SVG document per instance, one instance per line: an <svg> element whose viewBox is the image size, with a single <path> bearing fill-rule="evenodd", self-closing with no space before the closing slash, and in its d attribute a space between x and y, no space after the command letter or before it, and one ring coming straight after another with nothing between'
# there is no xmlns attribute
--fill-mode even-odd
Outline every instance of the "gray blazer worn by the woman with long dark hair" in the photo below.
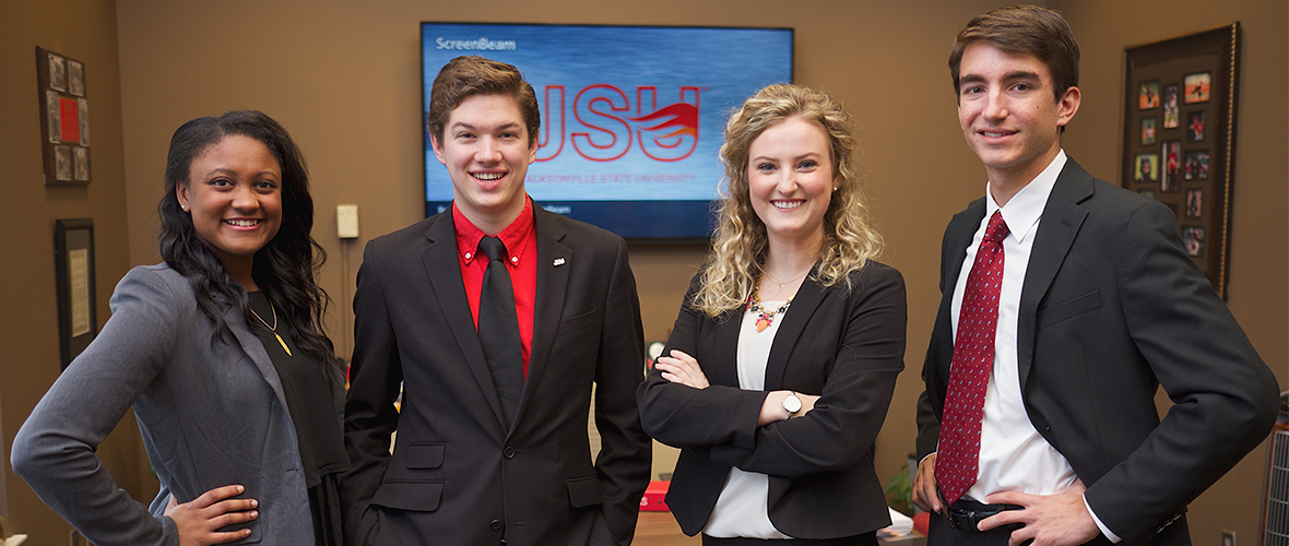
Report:
<svg viewBox="0 0 1289 546"><path fill-rule="evenodd" d="M116 286L112 318L18 430L14 473L90 542L178 545L166 498L188 502L242 484L259 501L251 536L236 543L312 545L295 428L268 354L236 310L211 343L188 279L165 264ZM333 381L336 419L343 380ZM161 480L151 507L117 488L94 456L133 404ZM238 525L241 527L241 525Z"/></svg>

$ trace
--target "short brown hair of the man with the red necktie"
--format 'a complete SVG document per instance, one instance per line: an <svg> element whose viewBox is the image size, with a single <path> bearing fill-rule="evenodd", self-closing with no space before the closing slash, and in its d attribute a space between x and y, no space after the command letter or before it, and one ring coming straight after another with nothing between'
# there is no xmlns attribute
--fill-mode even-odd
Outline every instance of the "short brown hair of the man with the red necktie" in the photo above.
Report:
<svg viewBox="0 0 1289 546"><path fill-rule="evenodd" d="M1079 42L1060 13L1036 5L1009 5L977 15L958 32L949 54L954 93L960 93L958 68L963 52L977 41L987 41L1002 52L1038 57L1052 72L1052 94L1061 100L1065 91L1079 86Z"/></svg>

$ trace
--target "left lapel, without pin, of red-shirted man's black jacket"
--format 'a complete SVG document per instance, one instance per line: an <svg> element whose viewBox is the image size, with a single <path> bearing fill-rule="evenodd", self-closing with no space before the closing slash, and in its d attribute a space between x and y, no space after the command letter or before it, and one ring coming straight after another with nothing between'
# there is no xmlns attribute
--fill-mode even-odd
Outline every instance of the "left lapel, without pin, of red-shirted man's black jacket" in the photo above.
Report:
<svg viewBox="0 0 1289 546"><path fill-rule="evenodd" d="M429 276L432 300L438 301L443 315L447 317L447 327L456 339L465 358L465 367L469 368L474 381L478 382L483 398L487 399L492 413L501 424L505 422L501 413L501 400L496 394L496 385L492 382L492 372L487 368L487 359L483 358L483 345L480 344L478 331L474 330L474 315L470 313L470 304L465 299L465 281L461 278L461 268L458 267L456 233L452 229L451 214L441 214L425 232L429 246L422 251L422 264L425 274Z"/></svg>

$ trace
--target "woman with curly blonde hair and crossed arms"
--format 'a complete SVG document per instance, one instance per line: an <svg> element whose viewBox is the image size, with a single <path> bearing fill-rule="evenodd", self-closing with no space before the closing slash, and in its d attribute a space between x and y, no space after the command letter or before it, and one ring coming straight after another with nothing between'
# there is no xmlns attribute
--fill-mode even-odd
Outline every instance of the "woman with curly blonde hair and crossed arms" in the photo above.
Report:
<svg viewBox="0 0 1289 546"><path fill-rule="evenodd" d="M849 118L772 85L726 127L728 196L642 422L682 449L666 497L704 543L875 545L873 442L904 370L905 287L873 261Z"/></svg>

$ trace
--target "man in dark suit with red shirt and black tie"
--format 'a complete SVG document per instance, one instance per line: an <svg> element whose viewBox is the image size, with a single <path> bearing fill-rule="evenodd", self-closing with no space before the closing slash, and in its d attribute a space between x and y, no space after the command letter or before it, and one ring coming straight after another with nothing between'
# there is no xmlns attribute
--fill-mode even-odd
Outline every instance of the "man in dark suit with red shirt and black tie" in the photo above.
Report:
<svg viewBox="0 0 1289 546"><path fill-rule="evenodd" d="M351 543L632 541L651 453L635 281L620 237L525 192L538 116L513 66L460 57L434 80L429 133L452 207L371 241L358 270Z"/></svg>

